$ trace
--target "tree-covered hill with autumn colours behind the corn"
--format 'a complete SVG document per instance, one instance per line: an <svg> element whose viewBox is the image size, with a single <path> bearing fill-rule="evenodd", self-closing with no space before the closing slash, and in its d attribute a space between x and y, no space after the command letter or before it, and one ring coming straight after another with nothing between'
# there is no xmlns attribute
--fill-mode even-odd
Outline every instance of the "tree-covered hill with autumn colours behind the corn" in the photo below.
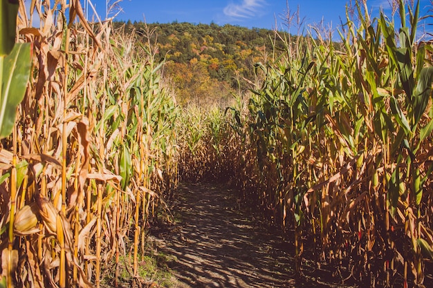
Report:
<svg viewBox="0 0 433 288"><path fill-rule="evenodd" d="M116 22L115 27L119 26L124 26L127 33L146 37L145 23ZM172 79L180 102L207 104L209 99L228 97L231 89L239 88L238 80L243 86L243 78L254 78L255 63L264 61L273 46L284 44L273 30L230 24L173 22L147 26L155 29L152 37L157 37L158 57L167 60L165 75ZM288 36L282 32L279 35Z"/></svg>

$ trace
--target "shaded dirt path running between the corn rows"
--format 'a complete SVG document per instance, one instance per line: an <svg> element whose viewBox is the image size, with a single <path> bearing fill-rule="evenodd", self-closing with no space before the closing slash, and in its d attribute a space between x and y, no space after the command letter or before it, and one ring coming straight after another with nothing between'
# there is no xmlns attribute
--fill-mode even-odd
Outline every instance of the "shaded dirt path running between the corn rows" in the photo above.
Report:
<svg viewBox="0 0 433 288"><path fill-rule="evenodd" d="M339 287L313 277L295 283L293 245L257 225L235 194L224 184L179 187L176 224L152 236L171 259L174 287Z"/></svg>

